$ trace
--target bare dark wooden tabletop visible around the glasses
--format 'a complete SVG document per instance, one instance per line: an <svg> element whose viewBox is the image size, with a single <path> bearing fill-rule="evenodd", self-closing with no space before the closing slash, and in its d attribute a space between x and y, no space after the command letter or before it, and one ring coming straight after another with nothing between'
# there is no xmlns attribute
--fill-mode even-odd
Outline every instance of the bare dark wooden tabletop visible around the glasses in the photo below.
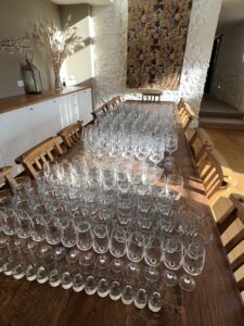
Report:
<svg viewBox="0 0 244 326"><path fill-rule="evenodd" d="M68 150L61 160L80 153L80 145ZM203 184L183 129L179 129L179 147L175 159L184 178L184 193L198 202L211 216ZM218 229L211 216L210 231L214 239L206 247L206 262L197 276L193 292L177 289L178 302L164 304L158 313L149 309L138 310L121 301L76 293L72 289L52 288L25 278L15 280L0 275L0 326L241 326L244 325L244 305L230 269ZM175 297L176 298L176 297Z"/></svg>

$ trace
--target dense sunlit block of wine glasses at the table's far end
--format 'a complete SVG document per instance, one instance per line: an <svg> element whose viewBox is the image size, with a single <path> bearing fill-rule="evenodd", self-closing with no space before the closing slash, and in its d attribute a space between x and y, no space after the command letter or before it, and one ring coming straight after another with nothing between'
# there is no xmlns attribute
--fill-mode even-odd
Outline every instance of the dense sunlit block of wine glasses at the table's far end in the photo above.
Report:
<svg viewBox="0 0 244 326"><path fill-rule="evenodd" d="M123 103L99 125L86 128L82 137L85 150L89 153L93 151L100 158L105 150L112 158L121 153L125 158L134 156L139 161L149 159L153 164L164 159L165 151L172 153L177 149L177 141L174 141L174 147L170 141L177 139L172 110L158 111L157 108L151 114L138 110L137 105L134 109L131 111Z"/></svg>

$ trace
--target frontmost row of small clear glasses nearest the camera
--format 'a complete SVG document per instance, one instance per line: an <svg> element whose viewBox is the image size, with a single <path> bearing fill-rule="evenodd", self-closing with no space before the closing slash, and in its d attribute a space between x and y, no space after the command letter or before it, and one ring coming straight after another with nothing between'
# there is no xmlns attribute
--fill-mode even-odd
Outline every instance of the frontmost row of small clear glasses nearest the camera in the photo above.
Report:
<svg viewBox="0 0 244 326"><path fill-rule="evenodd" d="M49 283L52 287L73 288L87 294L121 299L124 304L132 302L139 309L149 308L157 312L162 309L164 287L142 279L141 267L130 262L111 259L110 255L94 255L91 251L80 253L63 247L51 247L15 237L0 235L0 273L15 279L26 277L39 284ZM162 290L163 289L163 290ZM142 296L143 292L143 296Z"/></svg>

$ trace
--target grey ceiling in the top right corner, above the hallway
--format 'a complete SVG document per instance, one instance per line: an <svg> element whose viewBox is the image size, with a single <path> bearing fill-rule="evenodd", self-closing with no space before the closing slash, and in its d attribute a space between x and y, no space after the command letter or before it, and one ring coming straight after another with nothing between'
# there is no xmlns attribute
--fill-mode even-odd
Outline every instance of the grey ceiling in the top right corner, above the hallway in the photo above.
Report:
<svg viewBox="0 0 244 326"><path fill-rule="evenodd" d="M244 0L223 0L219 15L219 27L244 21Z"/></svg>

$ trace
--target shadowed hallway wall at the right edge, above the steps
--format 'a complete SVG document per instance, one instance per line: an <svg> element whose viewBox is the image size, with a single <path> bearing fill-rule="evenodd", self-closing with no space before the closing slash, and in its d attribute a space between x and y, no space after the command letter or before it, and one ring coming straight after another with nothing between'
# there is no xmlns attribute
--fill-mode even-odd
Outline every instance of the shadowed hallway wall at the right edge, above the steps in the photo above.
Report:
<svg viewBox="0 0 244 326"><path fill-rule="evenodd" d="M244 111L244 23L223 33L210 92Z"/></svg>

